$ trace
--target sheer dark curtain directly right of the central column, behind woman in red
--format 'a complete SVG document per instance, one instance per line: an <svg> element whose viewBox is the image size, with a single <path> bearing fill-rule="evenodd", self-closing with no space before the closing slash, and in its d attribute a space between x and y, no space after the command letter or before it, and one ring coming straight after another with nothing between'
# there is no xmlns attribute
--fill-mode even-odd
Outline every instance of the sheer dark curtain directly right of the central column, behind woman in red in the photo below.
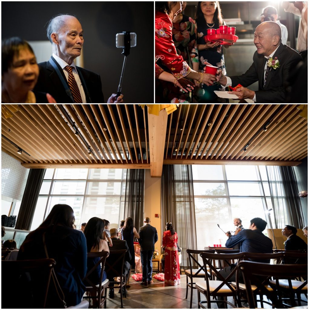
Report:
<svg viewBox="0 0 309 310"><path fill-rule="evenodd" d="M188 268L187 249L196 249L196 226L191 165L163 165L161 178L161 227L171 222L182 248L182 263Z"/></svg>

